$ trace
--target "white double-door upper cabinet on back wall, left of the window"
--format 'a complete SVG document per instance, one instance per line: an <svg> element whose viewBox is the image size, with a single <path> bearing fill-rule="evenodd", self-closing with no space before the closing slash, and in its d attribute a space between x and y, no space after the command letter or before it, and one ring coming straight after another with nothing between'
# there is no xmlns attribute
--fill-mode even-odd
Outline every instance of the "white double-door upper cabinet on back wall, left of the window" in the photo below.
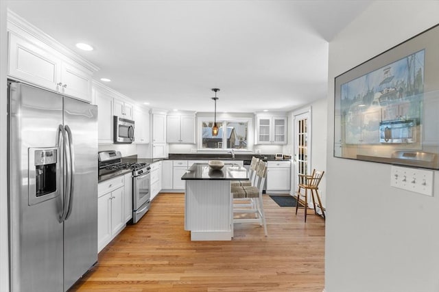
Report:
<svg viewBox="0 0 439 292"><path fill-rule="evenodd" d="M195 144L195 116L167 116L168 143Z"/></svg>

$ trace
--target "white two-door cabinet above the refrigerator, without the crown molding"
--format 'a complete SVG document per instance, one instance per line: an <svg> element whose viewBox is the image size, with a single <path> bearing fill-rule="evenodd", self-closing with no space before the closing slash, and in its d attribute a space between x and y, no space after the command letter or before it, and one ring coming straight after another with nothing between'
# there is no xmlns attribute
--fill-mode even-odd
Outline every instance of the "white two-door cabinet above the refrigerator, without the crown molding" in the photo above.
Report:
<svg viewBox="0 0 439 292"><path fill-rule="evenodd" d="M10 77L91 103L93 70L33 36L25 33L19 36L17 32L21 30L12 27L14 31L9 33Z"/></svg>

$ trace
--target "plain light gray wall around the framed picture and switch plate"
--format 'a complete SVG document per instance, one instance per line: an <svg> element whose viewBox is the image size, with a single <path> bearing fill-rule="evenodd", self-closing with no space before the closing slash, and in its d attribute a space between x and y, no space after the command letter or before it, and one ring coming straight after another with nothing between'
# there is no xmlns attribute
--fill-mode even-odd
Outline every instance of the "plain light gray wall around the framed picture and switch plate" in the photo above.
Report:
<svg viewBox="0 0 439 292"><path fill-rule="evenodd" d="M329 43L326 292L439 291L438 172L429 197L390 187L390 165L333 158L334 78L438 21L439 1L374 1Z"/></svg>

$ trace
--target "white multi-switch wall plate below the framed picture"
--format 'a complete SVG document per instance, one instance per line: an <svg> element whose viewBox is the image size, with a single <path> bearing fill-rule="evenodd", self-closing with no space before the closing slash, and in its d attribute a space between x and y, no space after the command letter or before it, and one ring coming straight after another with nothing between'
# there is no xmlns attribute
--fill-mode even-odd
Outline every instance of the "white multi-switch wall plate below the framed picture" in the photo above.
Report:
<svg viewBox="0 0 439 292"><path fill-rule="evenodd" d="M407 191L433 196L433 174L431 170L393 166L390 170L390 185Z"/></svg>

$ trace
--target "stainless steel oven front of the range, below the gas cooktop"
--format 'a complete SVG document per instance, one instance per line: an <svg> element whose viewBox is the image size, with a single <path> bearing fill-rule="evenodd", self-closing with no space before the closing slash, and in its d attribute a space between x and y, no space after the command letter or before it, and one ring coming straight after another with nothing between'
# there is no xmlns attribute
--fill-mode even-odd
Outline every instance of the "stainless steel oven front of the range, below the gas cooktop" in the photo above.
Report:
<svg viewBox="0 0 439 292"><path fill-rule="evenodd" d="M132 174L132 223L136 224L150 209L150 166L134 170Z"/></svg>

